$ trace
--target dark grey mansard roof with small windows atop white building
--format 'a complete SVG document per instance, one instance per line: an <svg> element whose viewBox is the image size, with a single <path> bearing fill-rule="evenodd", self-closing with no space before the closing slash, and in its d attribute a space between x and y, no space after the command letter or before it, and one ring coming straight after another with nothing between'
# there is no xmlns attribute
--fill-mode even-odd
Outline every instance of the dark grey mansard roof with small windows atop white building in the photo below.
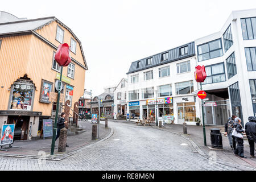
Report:
<svg viewBox="0 0 256 182"><path fill-rule="evenodd" d="M186 55L180 55L180 48L183 48L186 46L188 46L188 53ZM167 52L168 52L168 59L162 61L162 54L167 53ZM168 51L157 53L156 55L148 56L148 57L145 57L144 59L141 59L138 61L134 61L133 63L131 63L129 72L126 74L128 75L130 73L135 73L138 71L142 71L144 69L153 68L153 67L156 67L159 65L171 63L173 61L185 59L185 58L192 57L195 55L196 55L195 54L195 42L187 43L187 44L184 44L183 46L179 46L179 47L170 49ZM146 65L146 60L151 57L152 57L152 63L150 65ZM141 61L141 63L139 65L139 68L137 68L137 63L139 61Z"/></svg>

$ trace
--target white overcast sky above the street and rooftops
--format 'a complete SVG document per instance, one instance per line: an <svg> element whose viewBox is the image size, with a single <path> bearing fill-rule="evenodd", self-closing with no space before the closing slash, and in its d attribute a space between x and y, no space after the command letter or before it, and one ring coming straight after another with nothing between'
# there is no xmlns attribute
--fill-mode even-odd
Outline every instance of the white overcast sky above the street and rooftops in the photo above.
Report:
<svg viewBox="0 0 256 182"><path fill-rule="evenodd" d="M93 96L127 78L130 64L220 31L235 10L255 0L232 1L1 1L18 18L56 16L82 42L89 70L85 88Z"/></svg>

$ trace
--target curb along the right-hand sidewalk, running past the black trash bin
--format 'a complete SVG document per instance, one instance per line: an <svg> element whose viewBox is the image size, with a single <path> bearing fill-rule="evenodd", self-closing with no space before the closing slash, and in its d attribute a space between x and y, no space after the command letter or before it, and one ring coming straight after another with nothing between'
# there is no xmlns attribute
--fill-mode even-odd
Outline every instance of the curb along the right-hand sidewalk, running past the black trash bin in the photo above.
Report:
<svg viewBox="0 0 256 182"><path fill-rule="evenodd" d="M165 129L160 129L159 127L154 127L154 126L151 126L152 128L155 128L155 129L158 129L158 130L162 130L162 131L167 131L167 132L170 132L170 133L173 133L173 134L176 134L176 135L179 135L180 137L183 137L185 139L187 139L191 144L192 146L195 148L195 150L201 155L203 156L204 158L206 159L209 159L209 156L207 154L205 154L205 152L203 150L200 149L199 146L197 146L197 144L190 138L188 137L185 137L185 135L182 135L182 134L179 134L179 133L174 133L172 131L168 131L168 130L165 130ZM247 167L247 166L241 166L241 165L238 165L238 164L233 164L233 163L229 163L229 162L226 162L226 161L220 161L220 160L217 160L216 163L219 163L219 164L222 164L224 166L228 166L228 167L233 167L235 169L238 169L238 170L241 170L241 171L256 171L256 168L253 168L253 167Z"/></svg>

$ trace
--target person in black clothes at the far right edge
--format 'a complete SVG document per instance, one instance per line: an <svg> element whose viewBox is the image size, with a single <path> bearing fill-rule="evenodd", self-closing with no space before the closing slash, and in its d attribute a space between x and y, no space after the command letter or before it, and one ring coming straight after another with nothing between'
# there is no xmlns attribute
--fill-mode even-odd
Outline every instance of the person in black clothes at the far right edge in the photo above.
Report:
<svg viewBox="0 0 256 182"><path fill-rule="evenodd" d="M245 124L245 133L250 145L250 158L255 158L254 156L254 150L255 146L254 143L256 143L256 118L254 116L248 117L248 121Z"/></svg>

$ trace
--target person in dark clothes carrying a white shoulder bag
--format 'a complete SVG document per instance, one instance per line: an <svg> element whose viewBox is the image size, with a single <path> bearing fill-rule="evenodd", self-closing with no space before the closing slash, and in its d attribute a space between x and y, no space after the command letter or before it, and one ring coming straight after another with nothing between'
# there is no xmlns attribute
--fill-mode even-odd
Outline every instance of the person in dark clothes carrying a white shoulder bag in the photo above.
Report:
<svg viewBox="0 0 256 182"><path fill-rule="evenodd" d="M236 135L236 142L237 142L237 147L236 150L234 151L234 154L237 156L240 156L240 158L246 158L246 156L243 155L243 135L242 133L245 131L241 125L241 119L240 118L235 118L235 122L237 123L236 128L234 130L237 131ZM233 131L234 133L234 131ZM232 135L233 135L232 133Z"/></svg>

